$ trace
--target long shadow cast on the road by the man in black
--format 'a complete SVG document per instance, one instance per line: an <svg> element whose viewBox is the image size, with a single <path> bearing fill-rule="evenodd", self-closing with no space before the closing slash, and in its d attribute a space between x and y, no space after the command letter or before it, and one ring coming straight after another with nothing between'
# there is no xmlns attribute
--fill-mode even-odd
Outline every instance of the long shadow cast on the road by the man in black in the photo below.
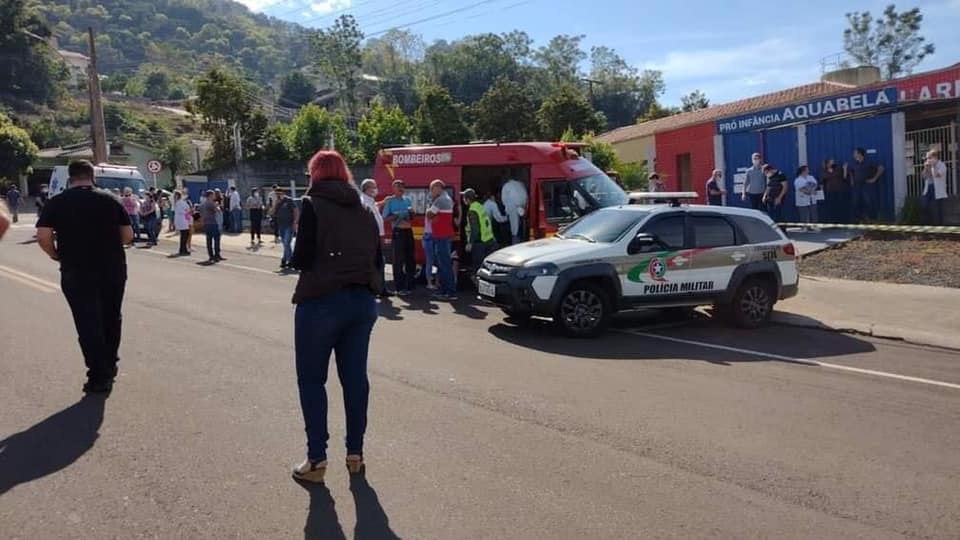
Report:
<svg viewBox="0 0 960 540"><path fill-rule="evenodd" d="M0 441L0 495L70 466L93 448L105 404L105 396L87 395Z"/></svg>

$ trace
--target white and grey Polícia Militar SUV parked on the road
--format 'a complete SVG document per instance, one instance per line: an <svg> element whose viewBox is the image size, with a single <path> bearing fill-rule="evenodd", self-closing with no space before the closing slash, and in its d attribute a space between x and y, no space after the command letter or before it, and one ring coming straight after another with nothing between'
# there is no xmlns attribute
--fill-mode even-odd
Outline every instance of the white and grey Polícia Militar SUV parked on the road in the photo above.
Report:
<svg viewBox="0 0 960 540"><path fill-rule="evenodd" d="M713 305L753 328L797 294L794 245L769 217L677 199L601 208L553 238L497 251L477 272L480 296L511 317L551 317L569 336L592 337L617 311L644 308Z"/></svg>

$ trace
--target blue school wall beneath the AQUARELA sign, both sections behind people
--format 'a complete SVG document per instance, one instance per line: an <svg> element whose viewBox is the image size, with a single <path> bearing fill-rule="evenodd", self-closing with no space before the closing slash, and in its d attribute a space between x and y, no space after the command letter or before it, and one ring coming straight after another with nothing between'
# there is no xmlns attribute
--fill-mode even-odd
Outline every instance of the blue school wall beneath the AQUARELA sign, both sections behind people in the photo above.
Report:
<svg viewBox="0 0 960 540"><path fill-rule="evenodd" d="M739 185L734 175L750 167L750 157L760 152L765 162L782 171L789 181L790 191L784 200L783 218L798 219L793 180L801 162L810 166L811 174L821 176L824 159L832 158L843 165L853 161L853 150L858 146L868 152L868 158L883 165L886 172L880 178L880 218L895 219L893 190L893 135L891 115L834 120L806 125L806 156L801 156L796 126L760 131L746 131L723 135L724 181L729 206L748 207L749 201L740 198Z"/></svg>

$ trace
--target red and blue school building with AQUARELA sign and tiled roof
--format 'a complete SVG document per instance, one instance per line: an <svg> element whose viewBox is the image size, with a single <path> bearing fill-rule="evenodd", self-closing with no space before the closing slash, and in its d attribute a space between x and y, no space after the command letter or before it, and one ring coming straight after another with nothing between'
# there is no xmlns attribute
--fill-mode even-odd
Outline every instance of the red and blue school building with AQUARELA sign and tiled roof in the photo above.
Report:
<svg viewBox="0 0 960 540"><path fill-rule="evenodd" d="M844 69L823 80L619 128L598 137L620 158L645 163L671 189L705 194L714 169L724 171L727 204L739 197L751 155L760 152L792 179L801 165L853 160L857 147L884 166L881 217L895 221L908 198L924 190L923 162L937 149L947 165L947 221L960 224L960 64L889 81L872 67ZM736 194L736 196L734 196ZM792 200L786 219L795 219Z"/></svg>

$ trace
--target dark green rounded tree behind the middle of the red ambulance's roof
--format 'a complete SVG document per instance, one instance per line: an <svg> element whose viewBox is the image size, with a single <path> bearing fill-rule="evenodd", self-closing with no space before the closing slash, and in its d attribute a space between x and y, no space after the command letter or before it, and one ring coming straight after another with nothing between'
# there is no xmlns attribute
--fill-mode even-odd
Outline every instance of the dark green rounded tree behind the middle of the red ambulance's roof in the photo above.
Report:
<svg viewBox="0 0 960 540"><path fill-rule="evenodd" d="M520 83L501 77L474 107L477 137L529 141L537 136L537 106Z"/></svg>

